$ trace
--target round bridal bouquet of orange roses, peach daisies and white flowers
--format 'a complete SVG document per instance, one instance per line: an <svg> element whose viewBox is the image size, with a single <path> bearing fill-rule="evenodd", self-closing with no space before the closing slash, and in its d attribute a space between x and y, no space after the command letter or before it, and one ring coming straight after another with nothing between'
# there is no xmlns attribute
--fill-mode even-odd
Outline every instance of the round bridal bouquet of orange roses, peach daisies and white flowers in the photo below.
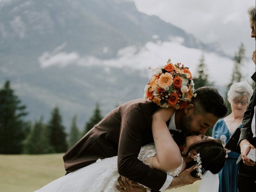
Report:
<svg viewBox="0 0 256 192"><path fill-rule="evenodd" d="M152 69L149 79L144 89L144 98L160 107L182 109L194 96L192 74L181 63L172 64L169 59L165 66Z"/></svg>

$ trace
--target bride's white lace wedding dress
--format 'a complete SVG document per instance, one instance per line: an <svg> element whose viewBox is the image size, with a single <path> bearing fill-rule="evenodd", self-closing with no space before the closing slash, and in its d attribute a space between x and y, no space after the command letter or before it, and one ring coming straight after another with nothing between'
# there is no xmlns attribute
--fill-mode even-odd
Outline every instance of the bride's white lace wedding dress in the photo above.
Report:
<svg viewBox="0 0 256 192"><path fill-rule="evenodd" d="M144 162L155 155L154 144L147 144L142 146L138 159ZM182 163L175 170L166 173L177 176L182 169ZM36 192L118 192L118 177L117 156L114 156L98 159L97 162L58 178Z"/></svg>

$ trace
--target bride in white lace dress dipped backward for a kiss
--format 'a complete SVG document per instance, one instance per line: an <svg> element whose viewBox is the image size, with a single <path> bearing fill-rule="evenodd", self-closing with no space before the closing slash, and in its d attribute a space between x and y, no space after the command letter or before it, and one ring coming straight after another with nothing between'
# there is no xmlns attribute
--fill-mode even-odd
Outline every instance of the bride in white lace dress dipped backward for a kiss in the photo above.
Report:
<svg viewBox="0 0 256 192"><path fill-rule="evenodd" d="M184 146L179 147L166 124L156 124L159 118L166 120L174 113L174 108L161 108L153 114L153 119L156 120L152 121L154 143L142 146L138 159L151 168L174 177L186 168L196 165L191 174L202 178L199 191L218 192L217 173L225 162L222 143L200 134L187 136ZM98 159L93 164L54 180L36 192L118 192L116 186L119 176L117 156Z"/></svg>

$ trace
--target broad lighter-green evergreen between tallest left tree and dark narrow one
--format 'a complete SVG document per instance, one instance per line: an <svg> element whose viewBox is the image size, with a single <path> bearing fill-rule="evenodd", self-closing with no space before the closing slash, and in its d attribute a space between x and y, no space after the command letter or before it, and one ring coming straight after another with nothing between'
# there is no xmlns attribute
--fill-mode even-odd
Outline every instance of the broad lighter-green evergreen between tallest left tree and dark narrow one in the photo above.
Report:
<svg viewBox="0 0 256 192"><path fill-rule="evenodd" d="M32 126L26 141L24 142L24 153L26 154L46 154L54 153L46 135L46 126L42 122L42 117Z"/></svg>

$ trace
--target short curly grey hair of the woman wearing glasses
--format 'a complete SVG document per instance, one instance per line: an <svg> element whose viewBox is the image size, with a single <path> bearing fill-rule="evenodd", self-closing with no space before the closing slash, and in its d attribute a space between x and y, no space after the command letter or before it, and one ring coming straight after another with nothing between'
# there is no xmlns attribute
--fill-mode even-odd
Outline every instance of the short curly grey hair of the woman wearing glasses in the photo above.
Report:
<svg viewBox="0 0 256 192"><path fill-rule="evenodd" d="M234 98L242 97L246 93L248 94L248 101L249 101L252 96L252 92L253 92L252 87L247 82L241 81L241 82L233 83L230 86L230 89L228 90L228 102L231 103L231 101Z"/></svg>

